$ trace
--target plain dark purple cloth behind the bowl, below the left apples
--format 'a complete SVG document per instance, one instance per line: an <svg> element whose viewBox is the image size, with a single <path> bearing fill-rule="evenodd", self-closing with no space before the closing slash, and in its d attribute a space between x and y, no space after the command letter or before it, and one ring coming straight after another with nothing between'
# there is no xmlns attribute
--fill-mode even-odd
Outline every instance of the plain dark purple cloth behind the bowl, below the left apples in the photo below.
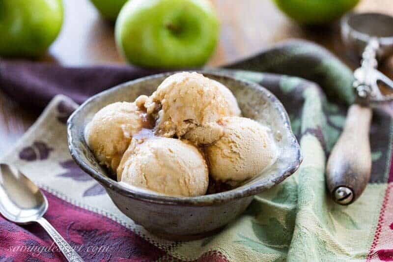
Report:
<svg viewBox="0 0 393 262"><path fill-rule="evenodd" d="M119 65L66 67L54 63L0 60L0 88L21 104L44 108L56 94L82 103L100 91L159 72Z"/></svg>

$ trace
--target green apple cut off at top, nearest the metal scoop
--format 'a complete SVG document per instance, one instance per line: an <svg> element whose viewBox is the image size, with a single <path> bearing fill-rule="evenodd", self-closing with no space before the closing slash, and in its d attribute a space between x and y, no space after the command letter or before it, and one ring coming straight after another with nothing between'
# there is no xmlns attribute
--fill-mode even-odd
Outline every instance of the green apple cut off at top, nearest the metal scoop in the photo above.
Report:
<svg viewBox="0 0 393 262"><path fill-rule="evenodd" d="M359 0L274 0L287 16L303 25L328 24L351 10Z"/></svg>

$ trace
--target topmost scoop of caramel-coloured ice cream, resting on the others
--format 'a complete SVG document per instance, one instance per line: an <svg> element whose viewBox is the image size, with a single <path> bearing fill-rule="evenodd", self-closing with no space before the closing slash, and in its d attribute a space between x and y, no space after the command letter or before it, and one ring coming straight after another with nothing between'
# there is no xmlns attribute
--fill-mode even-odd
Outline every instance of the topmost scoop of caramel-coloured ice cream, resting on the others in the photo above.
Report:
<svg viewBox="0 0 393 262"><path fill-rule="evenodd" d="M156 133L164 137L181 137L196 126L229 116L227 102L217 85L195 72L169 76L151 99L161 105Z"/></svg>

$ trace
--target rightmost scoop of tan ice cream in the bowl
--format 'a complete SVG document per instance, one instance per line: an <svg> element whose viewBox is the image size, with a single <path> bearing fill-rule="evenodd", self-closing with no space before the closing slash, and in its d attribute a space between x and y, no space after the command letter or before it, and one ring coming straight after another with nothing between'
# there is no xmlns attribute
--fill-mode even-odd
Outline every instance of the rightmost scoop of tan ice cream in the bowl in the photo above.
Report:
<svg viewBox="0 0 393 262"><path fill-rule="evenodd" d="M244 117L224 117L219 121L224 135L205 147L210 175L219 181L241 182L260 174L277 157L277 147L269 129Z"/></svg>

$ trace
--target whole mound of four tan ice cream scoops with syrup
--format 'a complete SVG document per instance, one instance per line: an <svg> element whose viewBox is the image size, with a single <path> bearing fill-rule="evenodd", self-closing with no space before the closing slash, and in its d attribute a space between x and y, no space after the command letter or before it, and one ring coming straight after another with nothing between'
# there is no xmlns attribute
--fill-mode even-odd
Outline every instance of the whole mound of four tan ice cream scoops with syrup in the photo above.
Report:
<svg viewBox="0 0 393 262"><path fill-rule="evenodd" d="M209 179L212 185L238 185L275 162L271 130L240 115L235 96L223 84L181 72L150 96L100 110L85 137L119 182L193 197L206 194L208 187L210 192Z"/></svg>

